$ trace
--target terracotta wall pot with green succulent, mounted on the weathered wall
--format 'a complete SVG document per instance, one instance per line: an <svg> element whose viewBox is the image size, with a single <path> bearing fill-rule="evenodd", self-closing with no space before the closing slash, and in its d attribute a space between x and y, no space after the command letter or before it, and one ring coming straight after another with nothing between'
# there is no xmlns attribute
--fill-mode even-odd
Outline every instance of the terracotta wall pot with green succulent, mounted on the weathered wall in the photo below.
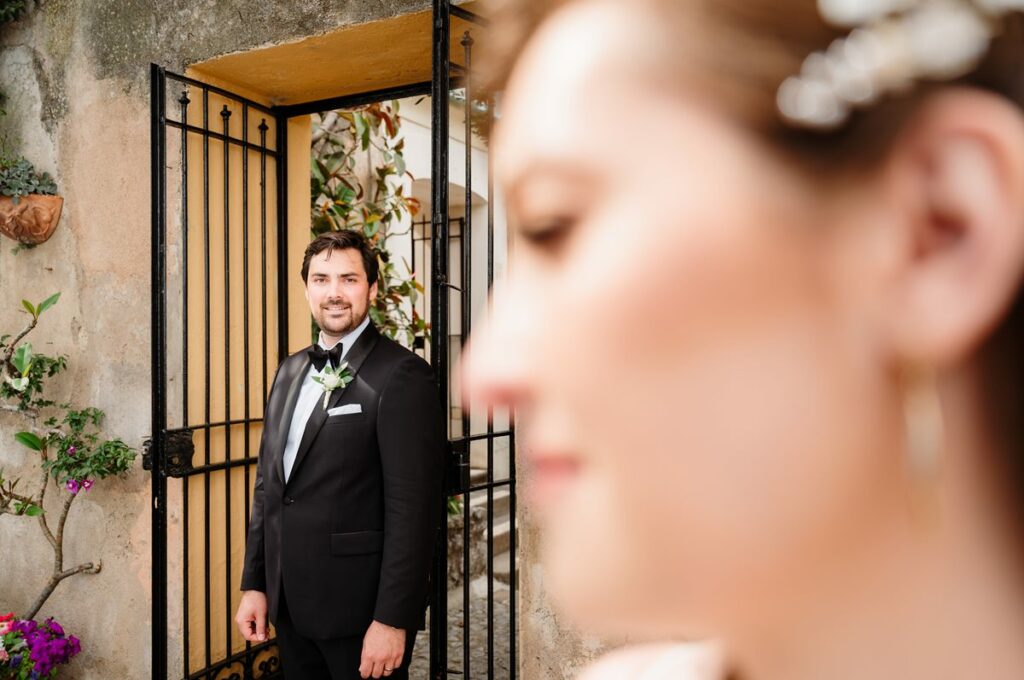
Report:
<svg viewBox="0 0 1024 680"><path fill-rule="evenodd" d="M0 233L34 246L53 233L63 199L49 173L37 172L26 158L0 157Z"/></svg>

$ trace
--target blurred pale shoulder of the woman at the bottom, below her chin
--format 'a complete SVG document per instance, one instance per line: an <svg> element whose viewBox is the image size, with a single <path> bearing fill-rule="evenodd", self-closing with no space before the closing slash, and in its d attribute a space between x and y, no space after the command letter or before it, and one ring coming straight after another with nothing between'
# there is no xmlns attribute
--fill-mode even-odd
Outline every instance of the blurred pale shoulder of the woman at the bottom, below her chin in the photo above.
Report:
<svg viewBox="0 0 1024 680"><path fill-rule="evenodd" d="M616 649L588 668L580 680L724 680L714 643L643 644Z"/></svg>

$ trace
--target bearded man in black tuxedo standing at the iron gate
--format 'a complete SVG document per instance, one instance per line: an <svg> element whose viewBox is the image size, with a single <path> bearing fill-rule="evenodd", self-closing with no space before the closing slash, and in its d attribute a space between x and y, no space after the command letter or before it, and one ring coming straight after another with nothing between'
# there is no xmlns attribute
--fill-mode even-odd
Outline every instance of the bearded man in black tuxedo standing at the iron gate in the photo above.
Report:
<svg viewBox="0 0 1024 680"><path fill-rule="evenodd" d="M430 367L370 323L377 274L355 231L309 244L319 341L264 412L236 623L260 642L269 614L288 680L408 678L423 624L447 438Z"/></svg>

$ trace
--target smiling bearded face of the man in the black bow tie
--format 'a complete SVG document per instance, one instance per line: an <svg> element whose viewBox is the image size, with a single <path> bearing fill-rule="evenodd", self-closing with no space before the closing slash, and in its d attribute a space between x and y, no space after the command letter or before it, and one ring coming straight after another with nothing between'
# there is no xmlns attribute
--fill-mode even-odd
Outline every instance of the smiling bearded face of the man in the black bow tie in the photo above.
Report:
<svg viewBox="0 0 1024 680"><path fill-rule="evenodd" d="M309 260L306 299L325 335L340 337L355 330L376 297L377 282L367 281L359 251L324 250Z"/></svg>

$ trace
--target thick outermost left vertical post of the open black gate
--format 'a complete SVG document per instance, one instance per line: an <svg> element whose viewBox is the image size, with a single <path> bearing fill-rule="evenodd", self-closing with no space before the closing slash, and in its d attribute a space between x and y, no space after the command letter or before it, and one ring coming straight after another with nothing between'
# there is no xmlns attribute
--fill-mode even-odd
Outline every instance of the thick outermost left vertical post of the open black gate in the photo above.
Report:
<svg viewBox="0 0 1024 680"><path fill-rule="evenodd" d="M164 239L166 215L166 186L164 156L167 138L164 127L164 96L166 83L163 70L156 63L150 65L150 155L153 172L150 178L152 197L152 275L153 287L151 334L152 372L153 372L153 568L163 578L153 579L153 610L151 647L153 654L153 674L155 678L167 676L167 478L164 476L164 441L160 433L166 425L166 413L163 408L165 392L165 336L167 328L164 322L164 298L166 281L164 266L167 244Z"/></svg>

